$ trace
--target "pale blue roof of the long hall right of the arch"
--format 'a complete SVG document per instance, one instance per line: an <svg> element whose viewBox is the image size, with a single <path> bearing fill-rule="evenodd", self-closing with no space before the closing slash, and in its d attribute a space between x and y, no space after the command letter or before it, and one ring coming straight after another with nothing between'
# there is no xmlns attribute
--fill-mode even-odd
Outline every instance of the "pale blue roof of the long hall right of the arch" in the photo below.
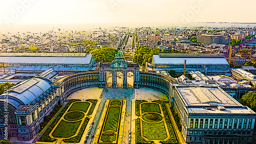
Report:
<svg viewBox="0 0 256 144"><path fill-rule="evenodd" d="M155 64L184 64L184 60L186 64L225 64L228 65L227 60L223 57L159 57L159 55L153 55Z"/></svg>

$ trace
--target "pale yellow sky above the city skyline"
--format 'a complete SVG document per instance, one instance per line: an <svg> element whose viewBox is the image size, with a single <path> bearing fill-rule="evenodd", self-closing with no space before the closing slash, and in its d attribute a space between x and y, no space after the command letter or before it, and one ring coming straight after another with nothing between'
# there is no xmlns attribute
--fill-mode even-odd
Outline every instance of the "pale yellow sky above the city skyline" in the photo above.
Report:
<svg viewBox="0 0 256 144"><path fill-rule="evenodd" d="M12 0L0 1L0 24L256 22L255 4L252 0Z"/></svg>

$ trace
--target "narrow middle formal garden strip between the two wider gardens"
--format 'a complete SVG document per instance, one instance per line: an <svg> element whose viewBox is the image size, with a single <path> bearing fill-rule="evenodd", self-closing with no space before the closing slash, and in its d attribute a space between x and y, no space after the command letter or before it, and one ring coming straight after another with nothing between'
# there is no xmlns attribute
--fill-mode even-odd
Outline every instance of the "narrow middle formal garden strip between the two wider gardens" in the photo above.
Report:
<svg viewBox="0 0 256 144"><path fill-rule="evenodd" d="M117 143L123 107L122 100L110 100L104 115L98 143Z"/></svg>

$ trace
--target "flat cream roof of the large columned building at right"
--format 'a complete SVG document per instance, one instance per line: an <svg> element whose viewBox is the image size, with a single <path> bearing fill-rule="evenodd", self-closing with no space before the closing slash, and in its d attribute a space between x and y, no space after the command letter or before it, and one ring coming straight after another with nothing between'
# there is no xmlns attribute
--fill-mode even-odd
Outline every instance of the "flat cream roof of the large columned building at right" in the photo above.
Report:
<svg viewBox="0 0 256 144"><path fill-rule="evenodd" d="M256 114L215 86L177 86L188 113Z"/></svg>

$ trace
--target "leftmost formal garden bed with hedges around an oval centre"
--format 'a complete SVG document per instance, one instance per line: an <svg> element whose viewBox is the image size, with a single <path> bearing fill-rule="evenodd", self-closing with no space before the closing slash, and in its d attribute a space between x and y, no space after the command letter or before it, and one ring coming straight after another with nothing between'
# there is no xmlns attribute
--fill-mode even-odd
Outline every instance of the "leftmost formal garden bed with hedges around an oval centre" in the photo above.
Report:
<svg viewBox="0 0 256 144"><path fill-rule="evenodd" d="M57 140L57 138L66 138L63 139L63 141L80 142L83 132L90 120L88 115L92 114L96 103L97 100L87 100L86 102L70 100L38 141L53 142ZM50 135L52 135L52 137Z"/></svg>

